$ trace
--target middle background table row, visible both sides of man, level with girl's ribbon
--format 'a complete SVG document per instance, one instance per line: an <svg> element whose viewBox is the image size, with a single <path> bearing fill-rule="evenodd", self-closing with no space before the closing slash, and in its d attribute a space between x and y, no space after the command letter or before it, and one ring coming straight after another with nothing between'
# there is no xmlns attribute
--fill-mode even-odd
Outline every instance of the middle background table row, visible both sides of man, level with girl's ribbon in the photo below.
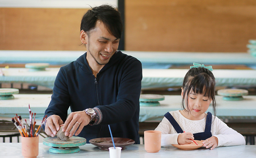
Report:
<svg viewBox="0 0 256 158"><path fill-rule="evenodd" d="M4 76L0 82L20 82L53 88L60 68L45 68L45 71L29 71L27 68L1 68ZM142 89L181 87L189 69L143 69ZM256 86L256 70L214 69L212 73L217 86Z"/></svg>

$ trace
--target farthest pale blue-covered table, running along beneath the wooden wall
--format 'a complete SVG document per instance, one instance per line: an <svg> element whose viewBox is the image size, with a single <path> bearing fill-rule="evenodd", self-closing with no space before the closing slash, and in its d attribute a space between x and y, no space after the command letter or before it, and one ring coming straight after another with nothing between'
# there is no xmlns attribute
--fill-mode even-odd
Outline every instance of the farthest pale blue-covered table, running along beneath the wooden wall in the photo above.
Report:
<svg viewBox="0 0 256 158"><path fill-rule="evenodd" d="M26 64L34 62L65 65L75 61L85 51L33 51L0 50L0 64ZM232 52L152 52L123 51L139 59L143 68L169 68L172 64L244 64L256 65L256 58L249 53Z"/></svg>

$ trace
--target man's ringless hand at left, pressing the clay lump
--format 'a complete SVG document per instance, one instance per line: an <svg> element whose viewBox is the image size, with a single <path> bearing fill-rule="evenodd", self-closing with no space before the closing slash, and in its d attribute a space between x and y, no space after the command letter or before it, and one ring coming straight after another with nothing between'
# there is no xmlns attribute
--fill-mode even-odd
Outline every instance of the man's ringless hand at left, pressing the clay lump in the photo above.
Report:
<svg viewBox="0 0 256 158"><path fill-rule="evenodd" d="M57 134L57 131L60 130L60 124L63 124L63 121L61 120L60 116L52 115L47 118L44 132L49 136L54 137Z"/></svg>

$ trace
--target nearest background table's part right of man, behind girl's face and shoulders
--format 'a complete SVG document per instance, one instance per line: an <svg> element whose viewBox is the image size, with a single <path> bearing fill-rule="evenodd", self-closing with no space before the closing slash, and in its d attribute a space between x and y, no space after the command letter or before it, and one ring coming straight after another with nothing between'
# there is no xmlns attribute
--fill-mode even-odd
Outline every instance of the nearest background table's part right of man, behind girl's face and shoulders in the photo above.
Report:
<svg viewBox="0 0 256 158"><path fill-rule="evenodd" d="M176 111L181 109L181 95L164 95L165 99L160 102L160 106L143 107L140 106L140 122L160 122L164 118L164 114L168 111ZM234 121L234 119L255 119L256 118L256 96L243 96L241 101L225 101L222 96L216 96L216 113L217 117L225 122ZM208 111L212 114L212 105ZM256 122L256 120L255 120ZM255 131L256 132L256 131Z"/></svg>

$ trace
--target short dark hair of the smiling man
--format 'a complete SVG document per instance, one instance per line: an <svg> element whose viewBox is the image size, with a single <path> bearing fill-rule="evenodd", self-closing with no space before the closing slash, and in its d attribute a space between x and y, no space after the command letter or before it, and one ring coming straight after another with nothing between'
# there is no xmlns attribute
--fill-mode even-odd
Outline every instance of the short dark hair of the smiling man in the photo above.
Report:
<svg viewBox="0 0 256 158"><path fill-rule="evenodd" d="M95 28L97 20L105 24L111 35L121 38L123 24L118 10L110 5L100 5L88 10L81 21L80 31L84 30L89 35Z"/></svg>

